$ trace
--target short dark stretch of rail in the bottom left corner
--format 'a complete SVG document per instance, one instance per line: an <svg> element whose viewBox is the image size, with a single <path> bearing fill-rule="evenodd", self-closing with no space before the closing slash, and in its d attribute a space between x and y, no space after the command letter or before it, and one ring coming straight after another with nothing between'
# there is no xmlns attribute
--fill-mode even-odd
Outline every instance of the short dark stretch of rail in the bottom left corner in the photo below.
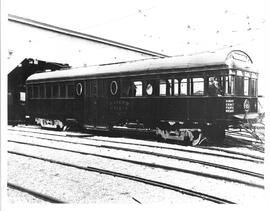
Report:
<svg viewBox="0 0 270 211"><path fill-rule="evenodd" d="M28 188L24 188L22 186L19 186L19 185L10 183L10 182L7 183L7 187L9 187L11 189L18 190L20 192L28 193L28 194L36 197L36 198L39 198L39 199L41 199L43 201L47 201L47 202L50 202L50 203L56 203L56 204L67 203L67 202L59 200L59 199L57 199L55 197L52 197L52 196L49 196L49 195L46 195L46 194L43 194L43 193L39 193L37 191L31 190L31 189L28 189Z"/></svg>

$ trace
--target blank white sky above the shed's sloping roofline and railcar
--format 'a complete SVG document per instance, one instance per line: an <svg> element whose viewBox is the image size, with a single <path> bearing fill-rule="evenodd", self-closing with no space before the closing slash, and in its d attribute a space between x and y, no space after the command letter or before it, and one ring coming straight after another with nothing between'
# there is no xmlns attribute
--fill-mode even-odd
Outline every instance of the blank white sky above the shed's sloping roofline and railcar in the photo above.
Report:
<svg viewBox="0 0 270 211"><path fill-rule="evenodd" d="M6 0L8 13L169 55L261 40L261 0Z"/></svg>

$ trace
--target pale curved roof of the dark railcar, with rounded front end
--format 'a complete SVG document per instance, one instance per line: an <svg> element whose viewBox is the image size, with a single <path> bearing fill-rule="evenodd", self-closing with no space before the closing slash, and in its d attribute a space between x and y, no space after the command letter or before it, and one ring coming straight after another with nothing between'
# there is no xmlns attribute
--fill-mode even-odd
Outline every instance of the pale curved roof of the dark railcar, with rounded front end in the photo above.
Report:
<svg viewBox="0 0 270 211"><path fill-rule="evenodd" d="M115 75L130 75L145 72L157 72L171 69L190 70L198 67L226 65L228 68L250 69L250 57L241 50L212 51L190 55L173 56L166 58L151 58L118 62L114 64L93 65L89 67L71 68L51 72L42 72L31 75L27 81L75 79L84 77L100 77Z"/></svg>

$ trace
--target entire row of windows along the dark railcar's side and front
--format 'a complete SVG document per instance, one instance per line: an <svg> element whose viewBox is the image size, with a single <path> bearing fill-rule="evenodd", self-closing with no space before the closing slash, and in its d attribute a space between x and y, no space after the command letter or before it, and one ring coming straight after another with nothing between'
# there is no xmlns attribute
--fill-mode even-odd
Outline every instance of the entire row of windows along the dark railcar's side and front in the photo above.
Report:
<svg viewBox="0 0 270 211"><path fill-rule="evenodd" d="M207 80L207 83L205 83L205 80ZM78 82L74 84L30 85L27 94L29 98L72 98L82 95L83 90L86 89L84 93L86 96L106 96L106 93L111 96L122 97L256 95L256 80L249 78L239 80L236 78L235 81L235 78L231 76L207 77L206 79L197 77L189 79L112 80L108 84L101 80L98 83L97 81L86 81L85 88L83 84ZM238 91L235 91L235 86Z"/></svg>

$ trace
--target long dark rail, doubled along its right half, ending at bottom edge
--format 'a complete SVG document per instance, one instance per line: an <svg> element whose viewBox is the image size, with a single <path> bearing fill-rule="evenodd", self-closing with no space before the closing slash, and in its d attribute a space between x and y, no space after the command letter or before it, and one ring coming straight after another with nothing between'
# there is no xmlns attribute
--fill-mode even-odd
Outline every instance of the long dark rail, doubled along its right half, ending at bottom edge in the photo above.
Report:
<svg viewBox="0 0 270 211"><path fill-rule="evenodd" d="M193 191L193 190L190 190L190 189L178 187L178 186L175 186L175 185L170 185L170 184L167 184L167 183L158 182L158 181L155 181L155 180L145 179L145 178L142 178L142 177L132 176L132 175L128 175L128 174L122 174L122 173L119 173L119 172L104 170L104 169L95 168L95 167L91 167L91 166L87 166L87 167L79 166L79 165L75 165L75 164L71 164L71 163L67 163L67 162L61 162L61 161L57 161L57 160L53 160L53 159L48 159L48 158L39 157L39 156L33 156L33 155L29 155L29 154L25 154L25 153L19 153L19 152L15 152L15 151L8 151L8 153L15 154L15 155L18 155L18 156L24 156L24 157L28 157L28 158L43 160L43 161L46 161L46 162L59 164L59 165L63 165L63 166L68 166L68 167L72 167L72 168L77 168L77 169L81 169L81 170L85 170L85 171L92 171L92 172L97 172L97 173L100 173L100 174L106 174L106 175L110 175L110 176L114 176L114 177L125 178L125 179L128 179L128 180L137 181L137 182L141 182L141 183L144 183L144 184L148 184L148 185L152 185L152 186L156 186L156 187L160 187L160 188L164 188L164 189L168 189L168 190L177 191L177 192L180 192L182 194L186 194L186 195L193 196L193 197L198 197L198 198L208 200L208 201L211 201L211 202L214 202L214 203L217 203L217 204L235 204L235 202L232 202L230 200L226 200L226 199L219 198L219 197L216 197L216 196L211 196L211 195L208 195L208 194L204 194L204 193Z"/></svg>

